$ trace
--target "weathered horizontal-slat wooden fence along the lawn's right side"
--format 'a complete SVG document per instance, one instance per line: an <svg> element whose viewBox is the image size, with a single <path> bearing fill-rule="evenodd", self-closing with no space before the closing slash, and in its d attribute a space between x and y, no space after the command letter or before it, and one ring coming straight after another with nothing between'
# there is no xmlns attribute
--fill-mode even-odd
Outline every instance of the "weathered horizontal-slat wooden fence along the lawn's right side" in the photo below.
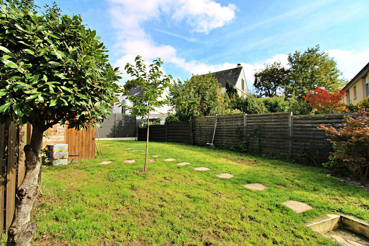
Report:
<svg viewBox="0 0 369 246"><path fill-rule="evenodd" d="M247 136L252 152L263 155L301 157L309 155L327 159L330 147L320 124L340 124L345 114L293 115L292 112L270 114L234 114L194 117L193 122L170 122L150 126L149 141L184 142L200 146L211 143L220 148L238 148L240 136ZM175 137L171 137L175 135ZM146 140L146 129L139 129L139 141ZM316 156L316 153L319 156Z"/></svg>

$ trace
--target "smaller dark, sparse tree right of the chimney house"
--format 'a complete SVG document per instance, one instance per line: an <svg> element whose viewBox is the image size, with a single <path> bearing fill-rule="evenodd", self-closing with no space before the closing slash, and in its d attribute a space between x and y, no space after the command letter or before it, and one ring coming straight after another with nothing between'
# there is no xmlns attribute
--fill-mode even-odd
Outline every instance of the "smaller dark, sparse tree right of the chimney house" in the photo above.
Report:
<svg viewBox="0 0 369 246"><path fill-rule="evenodd" d="M273 64L265 63L264 68L254 74L256 96L280 96L283 93L289 72L289 69L281 66L280 62L274 62Z"/></svg>

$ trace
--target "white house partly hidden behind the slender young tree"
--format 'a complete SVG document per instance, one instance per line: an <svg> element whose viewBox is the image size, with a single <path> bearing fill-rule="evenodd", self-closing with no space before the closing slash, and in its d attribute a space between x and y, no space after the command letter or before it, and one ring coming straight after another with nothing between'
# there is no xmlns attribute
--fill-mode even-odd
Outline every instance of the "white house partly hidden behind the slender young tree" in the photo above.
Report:
<svg viewBox="0 0 369 246"><path fill-rule="evenodd" d="M133 87L128 92L128 94L139 97L142 95L142 92L140 90L140 87L136 86L136 87ZM169 97L169 94L165 89L163 91L162 96L159 98L159 100L164 100L167 96ZM120 103L133 107L133 103L130 100L128 100L127 96L118 96L118 99ZM170 110L169 104L165 104L161 108L155 108L155 111L151 112L151 118L166 118L168 116L169 110ZM126 109L125 107L121 107L119 103L114 103L113 113L130 114L130 111ZM140 118L137 117L137 119L140 119Z"/></svg>

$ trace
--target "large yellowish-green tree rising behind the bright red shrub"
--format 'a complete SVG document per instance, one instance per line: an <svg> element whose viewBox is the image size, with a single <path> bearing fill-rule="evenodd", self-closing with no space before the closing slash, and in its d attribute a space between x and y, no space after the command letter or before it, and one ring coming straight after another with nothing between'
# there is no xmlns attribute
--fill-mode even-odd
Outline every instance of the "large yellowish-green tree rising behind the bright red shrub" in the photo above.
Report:
<svg viewBox="0 0 369 246"><path fill-rule="evenodd" d="M337 62L324 51L320 52L319 48L316 45L303 53L296 51L289 54L291 69L289 84L286 86L288 97L302 101L303 96L317 87L324 87L331 92L345 83L339 78L342 73L337 68Z"/></svg>

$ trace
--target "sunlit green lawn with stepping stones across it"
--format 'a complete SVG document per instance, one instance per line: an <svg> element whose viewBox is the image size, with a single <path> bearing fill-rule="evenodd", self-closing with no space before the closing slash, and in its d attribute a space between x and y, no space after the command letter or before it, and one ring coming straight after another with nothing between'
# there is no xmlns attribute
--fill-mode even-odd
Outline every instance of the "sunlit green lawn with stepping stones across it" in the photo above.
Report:
<svg viewBox="0 0 369 246"><path fill-rule="evenodd" d="M325 169L151 142L156 162L143 174L137 170L144 167L144 142L102 141L102 147L104 156L94 160L43 169L32 245L338 245L305 225L335 212L369 221L368 191L327 177ZM98 164L107 160L113 163ZM201 166L211 170L193 170ZM242 186L248 183L269 188L252 191ZM288 200L313 209L296 214L281 205Z"/></svg>

